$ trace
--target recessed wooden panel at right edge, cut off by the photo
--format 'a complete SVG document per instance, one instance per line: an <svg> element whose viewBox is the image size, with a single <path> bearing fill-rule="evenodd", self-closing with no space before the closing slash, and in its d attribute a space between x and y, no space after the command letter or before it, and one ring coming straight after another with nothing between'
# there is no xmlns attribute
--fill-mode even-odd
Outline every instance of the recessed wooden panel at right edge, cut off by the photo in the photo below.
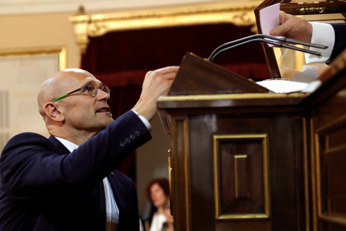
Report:
<svg viewBox="0 0 346 231"><path fill-rule="evenodd" d="M318 129L315 139L319 217L324 221L344 225L346 225L345 137L346 115Z"/></svg>

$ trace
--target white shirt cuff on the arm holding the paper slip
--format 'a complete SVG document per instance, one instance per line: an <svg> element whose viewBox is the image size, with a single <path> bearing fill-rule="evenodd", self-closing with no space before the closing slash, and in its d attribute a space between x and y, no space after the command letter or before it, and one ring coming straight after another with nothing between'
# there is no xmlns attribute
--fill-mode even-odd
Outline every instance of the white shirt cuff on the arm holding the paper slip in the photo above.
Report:
<svg viewBox="0 0 346 231"><path fill-rule="evenodd" d="M312 25L311 43L328 46L327 49L310 47L310 50L321 52L321 56L304 53L306 63L325 63L329 61L335 43L334 28L327 23L309 22Z"/></svg>

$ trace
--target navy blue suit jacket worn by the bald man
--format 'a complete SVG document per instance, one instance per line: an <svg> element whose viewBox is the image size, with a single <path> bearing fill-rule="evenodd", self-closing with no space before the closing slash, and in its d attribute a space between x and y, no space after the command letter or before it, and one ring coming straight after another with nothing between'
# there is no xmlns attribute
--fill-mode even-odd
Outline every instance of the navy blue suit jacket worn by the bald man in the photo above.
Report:
<svg viewBox="0 0 346 231"><path fill-rule="evenodd" d="M138 231L136 186L114 169L150 139L132 111L72 153L53 136L14 136L0 157L0 230L104 231L99 183L108 176L119 207L118 230Z"/></svg>

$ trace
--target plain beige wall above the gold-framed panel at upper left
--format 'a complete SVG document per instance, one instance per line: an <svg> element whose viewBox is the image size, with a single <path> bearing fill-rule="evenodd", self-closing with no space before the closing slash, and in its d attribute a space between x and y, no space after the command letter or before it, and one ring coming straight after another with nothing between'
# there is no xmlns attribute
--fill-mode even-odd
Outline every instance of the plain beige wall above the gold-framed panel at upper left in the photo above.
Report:
<svg viewBox="0 0 346 231"><path fill-rule="evenodd" d="M0 16L0 49L65 46L67 67L79 67L79 48L69 16L71 13Z"/></svg>

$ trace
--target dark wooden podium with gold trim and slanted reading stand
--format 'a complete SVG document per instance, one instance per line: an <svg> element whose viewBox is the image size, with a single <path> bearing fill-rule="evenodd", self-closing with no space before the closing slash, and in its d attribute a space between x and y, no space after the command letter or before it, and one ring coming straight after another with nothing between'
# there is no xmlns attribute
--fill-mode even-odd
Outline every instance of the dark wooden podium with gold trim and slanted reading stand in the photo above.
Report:
<svg viewBox="0 0 346 231"><path fill-rule="evenodd" d="M342 57L340 57L342 56ZM346 53L311 94L192 54L157 101L175 231L346 230Z"/></svg>

